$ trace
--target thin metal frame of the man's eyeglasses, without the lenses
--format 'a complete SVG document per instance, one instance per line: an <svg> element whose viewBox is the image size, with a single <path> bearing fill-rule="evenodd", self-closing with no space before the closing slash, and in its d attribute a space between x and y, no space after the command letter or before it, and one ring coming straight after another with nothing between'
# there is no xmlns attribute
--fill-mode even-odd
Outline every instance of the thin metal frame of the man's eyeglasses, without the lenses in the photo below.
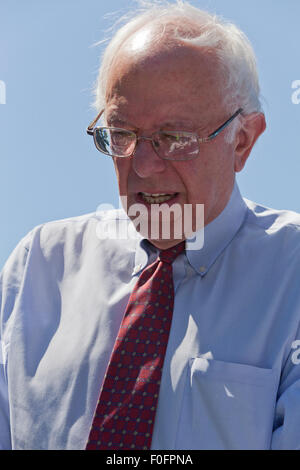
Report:
<svg viewBox="0 0 300 470"><path fill-rule="evenodd" d="M219 135L220 132L222 132L222 131L223 131L239 114L241 114L242 112L243 112L243 108L239 108L229 119L227 119L227 121L225 121L221 126L219 126L214 132L212 132L211 134L209 134L209 136L207 136L207 137L199 137L198 134L197 134L197 131L195 131L195 132L188 132L188 131L178 131L178 130L177 130L177 131L170 131L170 132L184 132L184 133L186 133L186 134L193 135L194 137L197 138L198 144L203 144L203 143L206 143L206 142L210 142L212 139L214 139L215 137L217 137L217 135ZM103 113L104 113L104 109L102 109L102 110L100 111L100 113L96 116L96 118L89 124L89 126L88 126L87 129L86 129L87 134L93 136L93 138L94 138L94 143L95 143L95 147L96 147L97 150L99 150L99 149L98 149L98 147L97 147L97 145L96 145L96 138L95 138L95 130L96 130L96 129L115 129L115 130L118 130L118 129L119 129L119 130L124 130L124 131L128 130L128 129L124 129L124 128L121 128L121 127L120 127L120 128L119 128L119 127L109 127L109 126L95 127L95 124L96 124L97 121L100 119L100 117L102 116ZM130 155L126 155L126 156L111 155L111 154L109 154L109 153L103 152L102 150L99 150L99 152L103 153L104 155L109 155L109 156L115 157L115 158L130 158L130 157L134 154L134 152L135 152L135 150L136 150L138 141L141 140L141 139L142 139L142 140L150 140L150 141L152 142L152 146L153 146L153 148L154 148L154 150L155 150L154 141L153 141L153 138L152 138L152 137L138 136L135 131L129 131L129 130L128 130L128 132L131 132L131 133L135 134L135 136L136 136L135 147L134 147L134 149L133 149L133 151L132 151L132 153L131 153ZM154 132L153 134L156 134L156 132ZM155 152L156 152L156 150L155 150ZM156 153L157 153L157 152L156 152ZM199 155L199 153L198 153L198 155ZM197 155L197 157L198 157L198 155ZM158 156L159 156L162 160L172 160L172 159L170 159L170 158L167 158L167 159L166 159L166 158L163 158L163 157L161 157L160 155L158 155ZM176 161L176 160L174 159L174 161Z"/></svg>

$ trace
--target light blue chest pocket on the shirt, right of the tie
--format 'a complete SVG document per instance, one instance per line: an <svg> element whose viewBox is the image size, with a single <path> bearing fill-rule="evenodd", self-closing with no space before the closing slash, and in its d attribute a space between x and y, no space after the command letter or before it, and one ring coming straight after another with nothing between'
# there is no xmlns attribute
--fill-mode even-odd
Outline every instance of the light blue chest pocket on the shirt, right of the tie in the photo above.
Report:
<svg viewBox="0 0 300 470"><path fill-rule="evenodd" d="M176 449L268 449L278 379L273 369L191 358Z"/></svg>

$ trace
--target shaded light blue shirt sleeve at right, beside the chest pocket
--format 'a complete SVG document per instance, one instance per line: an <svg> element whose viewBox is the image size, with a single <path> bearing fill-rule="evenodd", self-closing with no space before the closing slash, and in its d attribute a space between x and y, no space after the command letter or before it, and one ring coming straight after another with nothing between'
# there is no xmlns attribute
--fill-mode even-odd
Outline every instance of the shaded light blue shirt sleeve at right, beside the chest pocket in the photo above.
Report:
<svg viewBox="0 0 300 470"><path fill-rule="evenodd" d="M281 374L271 448L300 450L300 330Z"/></svg>

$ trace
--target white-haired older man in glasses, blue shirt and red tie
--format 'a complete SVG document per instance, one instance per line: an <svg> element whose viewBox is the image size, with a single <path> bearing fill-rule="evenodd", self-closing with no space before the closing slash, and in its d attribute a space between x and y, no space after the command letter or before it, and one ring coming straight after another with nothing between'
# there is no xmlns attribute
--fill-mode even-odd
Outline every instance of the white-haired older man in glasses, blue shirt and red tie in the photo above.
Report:
<svg viewBox="0 0 300 470"><path fill-rule="evenodd" d="M235 182L265 130L248 40L151 7L107 47L97 106L128 216L43 224L6 263L0 445L300 448L300 217ZM100 236L116 222L136 237Z"/></svg>

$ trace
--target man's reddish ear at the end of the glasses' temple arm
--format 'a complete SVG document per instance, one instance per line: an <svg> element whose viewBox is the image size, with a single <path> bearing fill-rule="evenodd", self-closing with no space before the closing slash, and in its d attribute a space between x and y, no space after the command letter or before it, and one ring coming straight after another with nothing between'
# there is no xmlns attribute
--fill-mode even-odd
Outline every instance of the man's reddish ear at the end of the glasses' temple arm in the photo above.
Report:
<svg viewBox="0 0 300 470"><path fill-rule="evenodd" d="M236 136L234 171L241 171L258 137L266 129L263 113L251 113L243 118L244 122Z"/></svg>

